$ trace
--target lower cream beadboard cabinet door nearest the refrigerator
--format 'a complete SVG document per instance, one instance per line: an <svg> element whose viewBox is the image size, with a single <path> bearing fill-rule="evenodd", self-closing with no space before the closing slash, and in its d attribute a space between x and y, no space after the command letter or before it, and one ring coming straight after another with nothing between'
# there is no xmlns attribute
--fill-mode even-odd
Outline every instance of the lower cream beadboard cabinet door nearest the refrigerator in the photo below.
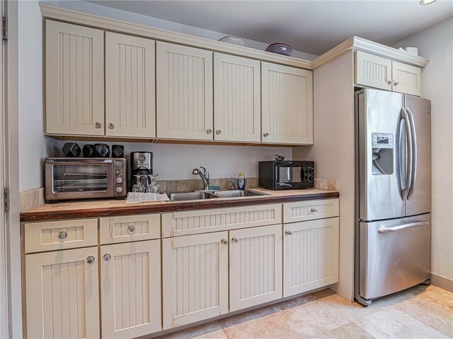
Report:
<svg viewBox="0 0 453 339"><path fill-rule="evenodd" d="M283 297L338 283L338 218L283 225Z"/></svg>

